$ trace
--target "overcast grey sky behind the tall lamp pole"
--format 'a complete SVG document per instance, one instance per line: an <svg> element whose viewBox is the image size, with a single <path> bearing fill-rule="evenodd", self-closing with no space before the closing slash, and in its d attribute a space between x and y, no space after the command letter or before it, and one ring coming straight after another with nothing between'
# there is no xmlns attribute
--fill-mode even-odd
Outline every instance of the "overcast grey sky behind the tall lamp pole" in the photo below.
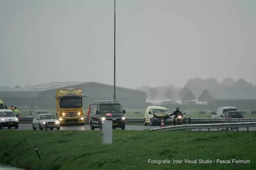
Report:
<svg viewBox="0 0 256 170"><path fill-rule="evenodd" d="M113 0L0 0L1 85L113 84ZM116 0L116 85L256 83L255 0Z"/></svg>

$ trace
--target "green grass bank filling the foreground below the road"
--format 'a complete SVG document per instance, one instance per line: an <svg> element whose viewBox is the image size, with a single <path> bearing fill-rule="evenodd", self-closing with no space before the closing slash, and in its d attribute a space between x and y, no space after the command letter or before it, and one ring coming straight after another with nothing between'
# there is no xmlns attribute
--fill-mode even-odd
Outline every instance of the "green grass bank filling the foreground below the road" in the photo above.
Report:
<svg viewBox="0 0 256 170"><path fill-rule="evenodd" d="M30 170L254 170L255 137L255 132L115 130L113 144L102 145L100 131L2 131L0 162ZM148 164L148 159L183 163ZM184 159L249 159L251 163L185 164Z"/></svg>

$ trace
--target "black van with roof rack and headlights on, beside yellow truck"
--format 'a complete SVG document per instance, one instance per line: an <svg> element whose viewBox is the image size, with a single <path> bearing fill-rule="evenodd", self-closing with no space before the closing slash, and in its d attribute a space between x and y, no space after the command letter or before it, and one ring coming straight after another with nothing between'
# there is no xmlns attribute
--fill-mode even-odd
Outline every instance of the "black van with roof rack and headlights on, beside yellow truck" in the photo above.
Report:
<svg viewBox="0 0 256 170"><path fill-rule="evenodd" d="M93 100L90 104L90 128L102 129L102 122L105 120L112 121L112 128L121 128L125 130L125 110L122 109L120 103L113 101Z"/></svg>

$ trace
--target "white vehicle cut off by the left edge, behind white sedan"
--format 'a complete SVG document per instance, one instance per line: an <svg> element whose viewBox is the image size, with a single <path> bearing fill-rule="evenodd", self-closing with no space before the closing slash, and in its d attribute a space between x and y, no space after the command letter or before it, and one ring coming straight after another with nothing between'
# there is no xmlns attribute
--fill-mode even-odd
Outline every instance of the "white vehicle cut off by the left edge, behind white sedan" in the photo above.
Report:
<svg viewBox="0 0 256 170"><path fill-rule="evenodd" d="M12 110L0 109L0 129L3 127L8 127L9 129L12 127L15 127L15 129L19 128L18 118Z"/></svg>

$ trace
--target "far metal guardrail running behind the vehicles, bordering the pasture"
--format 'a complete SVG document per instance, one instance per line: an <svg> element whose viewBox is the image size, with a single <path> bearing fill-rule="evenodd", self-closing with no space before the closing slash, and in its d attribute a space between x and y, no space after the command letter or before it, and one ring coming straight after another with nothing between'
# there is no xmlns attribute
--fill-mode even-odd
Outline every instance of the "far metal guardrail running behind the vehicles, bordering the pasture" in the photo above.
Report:
<svg viewBox="0 0 256 170"><path fill-rule="evenodd" d="M19 122L32 122L34 117L18 117ZM184 119L185 121L186 119ZM85 118L85 122L88 121ZM142 124L144 123L144 118L125 118L126 123ZM189 122L185 124L202 124L202 123L224 123L226 120L224 118L191 118ZM256 118L232 118L230 122L256 122Z"/></svg>

